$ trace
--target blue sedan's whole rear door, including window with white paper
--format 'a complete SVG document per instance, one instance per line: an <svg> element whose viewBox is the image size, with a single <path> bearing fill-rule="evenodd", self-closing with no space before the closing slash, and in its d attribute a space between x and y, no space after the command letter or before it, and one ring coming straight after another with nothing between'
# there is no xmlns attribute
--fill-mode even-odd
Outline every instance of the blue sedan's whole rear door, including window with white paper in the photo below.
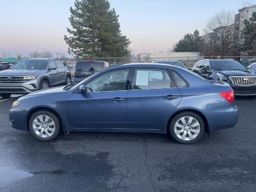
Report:
<svg viewBox="0 0 256 192"><path fill-rule="evenodd" d="M162 68L136 68L126 102L129 129L160 129L178 106L181 94Z"/></svg>

